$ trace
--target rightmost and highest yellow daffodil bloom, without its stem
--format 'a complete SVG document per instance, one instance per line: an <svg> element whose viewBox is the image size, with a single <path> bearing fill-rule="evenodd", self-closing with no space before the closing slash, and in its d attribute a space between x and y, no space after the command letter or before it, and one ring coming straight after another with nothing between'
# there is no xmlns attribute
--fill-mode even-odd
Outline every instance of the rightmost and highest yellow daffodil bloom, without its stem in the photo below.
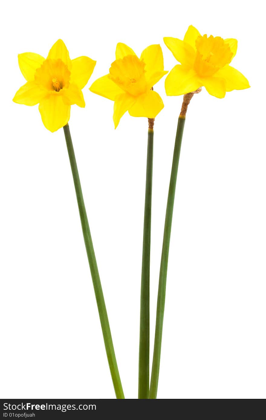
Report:
<svg viewBox="0 0 266 420"><path fill-rule="evenodd" d="M184 40L163 38L179 63L166 77L166 95L184 95L204 86L208 93L223 98L225 92L250 87L245 76L229 66L237 52L237 39L201 36L190 25Z"/></svg>

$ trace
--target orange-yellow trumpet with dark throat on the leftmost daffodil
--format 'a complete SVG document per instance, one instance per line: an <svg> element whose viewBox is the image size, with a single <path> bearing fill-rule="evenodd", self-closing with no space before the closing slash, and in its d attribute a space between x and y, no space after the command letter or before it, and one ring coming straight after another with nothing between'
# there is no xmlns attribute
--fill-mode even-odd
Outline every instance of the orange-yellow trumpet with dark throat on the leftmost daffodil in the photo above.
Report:
<svg viewBox="0 0 266 420"><path fill-rule="evenodd" d="M70 71L62 60L45 60L34 75L35 81L52 92L68 87Z"/></svg>

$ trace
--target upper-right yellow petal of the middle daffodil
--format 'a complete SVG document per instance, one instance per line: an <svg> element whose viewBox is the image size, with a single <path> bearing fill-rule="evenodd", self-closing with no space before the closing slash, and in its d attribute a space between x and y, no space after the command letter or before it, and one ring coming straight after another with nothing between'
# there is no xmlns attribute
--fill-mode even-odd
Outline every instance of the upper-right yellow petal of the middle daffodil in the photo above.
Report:
<svg viewBox="0 0 266 420"><path fill-rule="evenodd" d="M159 71L163 71L163 52L160 45L150 45L142 51L140 60L145 63L146 80Z"/></svg>

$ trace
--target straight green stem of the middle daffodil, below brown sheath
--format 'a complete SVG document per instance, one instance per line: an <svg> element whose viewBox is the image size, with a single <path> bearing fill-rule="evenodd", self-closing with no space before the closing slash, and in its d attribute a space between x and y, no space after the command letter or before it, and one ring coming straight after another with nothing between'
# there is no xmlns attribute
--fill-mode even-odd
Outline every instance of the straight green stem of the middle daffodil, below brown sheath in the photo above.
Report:
<svg viewBox="0 0 266 420"><path fill-rule="evenodd" d="M150 223L153 180L153 128L148 130L146 191L140 291L139 398L149 398L150 381Z"/></svg>

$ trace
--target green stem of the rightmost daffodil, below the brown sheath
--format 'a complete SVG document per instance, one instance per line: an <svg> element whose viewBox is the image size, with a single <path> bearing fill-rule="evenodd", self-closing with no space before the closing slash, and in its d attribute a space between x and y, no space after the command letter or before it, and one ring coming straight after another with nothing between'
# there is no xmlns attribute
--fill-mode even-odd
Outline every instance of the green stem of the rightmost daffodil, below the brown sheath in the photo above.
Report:
<svg viewBox="0 0 266 420"><path fill-rule="evenodd" d="M169 244L170 244L171 226L172 226L173 209L174 209L174 194L176 191L176 177L177 177L179 155L180 155L181 142L182 142L182 136L183 136L183 130L184 130L184 123L185 123L184 116L179 116L177 130L176 130L176 141L174 145L174 156L173 156L168 200L167 200L167 207L166 207L164 232L163 232L163 248L162 248L162 256L161 256L159 287L158 287L155 339L154 339L154 350L153 350L153 366L152 366L152 373L151 373L151 379L150 379L150 393L149 393L150 399L156 398L157 389L158 389Z"/></svg>

